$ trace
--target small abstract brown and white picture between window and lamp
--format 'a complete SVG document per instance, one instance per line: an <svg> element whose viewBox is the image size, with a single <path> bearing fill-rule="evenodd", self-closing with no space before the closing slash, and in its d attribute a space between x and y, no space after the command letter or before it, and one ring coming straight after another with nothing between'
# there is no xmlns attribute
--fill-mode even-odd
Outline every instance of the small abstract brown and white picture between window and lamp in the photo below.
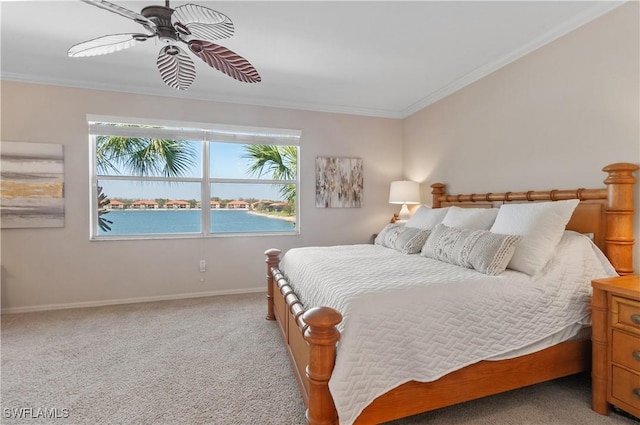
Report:
<svg viewBox="0 0 640 425"><path fill-rule="evenodd" d="M362 159L316 158L316 207L360 208L362 192Z"/></svg>

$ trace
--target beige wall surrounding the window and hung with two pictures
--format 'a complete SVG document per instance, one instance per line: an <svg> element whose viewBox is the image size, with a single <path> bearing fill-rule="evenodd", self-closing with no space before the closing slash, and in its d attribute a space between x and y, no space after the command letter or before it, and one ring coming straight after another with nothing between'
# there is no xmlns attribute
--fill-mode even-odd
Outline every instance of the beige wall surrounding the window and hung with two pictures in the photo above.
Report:
<svg viewBox="0 0 640 425"><path fill-rule="evenodd" d="M3 311L264 288L266 249L366 243L395 211L387 200L402 177L400 120L15 82L2 82L1 95L3 141L64 144L66 208L64 228L2 230ZM302 234L89 241L87 114L302 130ZM362 208L315 207L316 156L363 159Z"/></svg>

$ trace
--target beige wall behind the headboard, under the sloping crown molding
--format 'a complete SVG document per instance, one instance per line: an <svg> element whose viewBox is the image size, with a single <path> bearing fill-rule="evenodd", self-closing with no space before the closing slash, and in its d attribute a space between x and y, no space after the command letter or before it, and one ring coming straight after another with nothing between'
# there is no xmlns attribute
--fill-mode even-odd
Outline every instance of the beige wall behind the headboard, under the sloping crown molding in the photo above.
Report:
<svg viewBox="0 0 640 425"><path fill-rule="evenodd" d="M406 177L423 182L423 198L435 181L451 193L604 187L603 166L640 162L638 8L623 5L405 119Z"/></svg>

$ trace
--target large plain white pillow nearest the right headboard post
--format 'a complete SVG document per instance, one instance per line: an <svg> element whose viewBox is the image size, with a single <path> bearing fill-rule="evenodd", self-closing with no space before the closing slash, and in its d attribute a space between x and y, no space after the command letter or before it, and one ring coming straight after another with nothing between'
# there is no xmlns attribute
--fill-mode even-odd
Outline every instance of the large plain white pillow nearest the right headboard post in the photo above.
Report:
<svg viewBox="0 0 640 425"><path fill-rule="evenodd" d="M551 259L579 202L570 199L502 205L491 231L522 236L507 268L531 276L539 273Z"/></svg>

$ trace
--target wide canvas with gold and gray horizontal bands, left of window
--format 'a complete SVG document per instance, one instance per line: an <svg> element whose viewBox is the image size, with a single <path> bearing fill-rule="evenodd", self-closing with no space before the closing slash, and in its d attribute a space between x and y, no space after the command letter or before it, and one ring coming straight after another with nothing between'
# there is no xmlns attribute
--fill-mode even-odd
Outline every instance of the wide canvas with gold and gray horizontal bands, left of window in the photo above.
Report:
<svg viewBox="0 0 640 425"><path fill-rule="evenodd" d="M64 227L63 146L0 143L0 227Z"/></svg>

